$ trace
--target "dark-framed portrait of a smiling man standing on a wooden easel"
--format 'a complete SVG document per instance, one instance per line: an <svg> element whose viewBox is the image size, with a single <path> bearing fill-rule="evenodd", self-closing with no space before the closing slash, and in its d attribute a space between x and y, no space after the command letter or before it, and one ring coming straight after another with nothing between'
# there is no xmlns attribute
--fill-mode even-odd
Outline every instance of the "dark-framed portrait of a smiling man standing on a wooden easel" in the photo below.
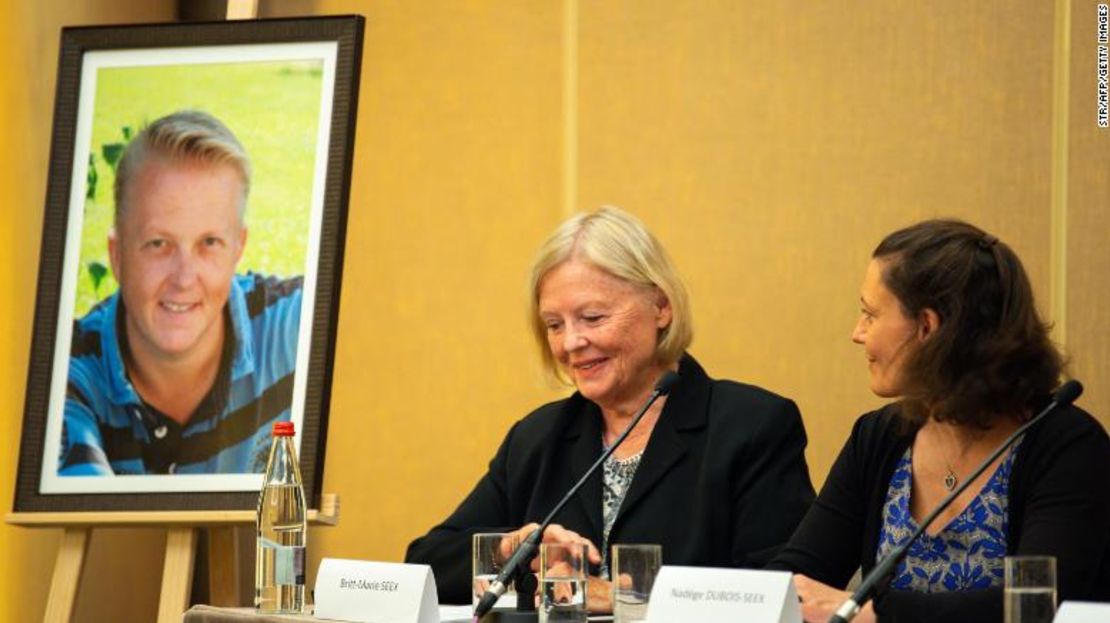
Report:
<svg viewBox="0 0 1110 623"><path fill-rule="evenodd" d="M319 501L363 19L65 28L14 510Z"/></svg>

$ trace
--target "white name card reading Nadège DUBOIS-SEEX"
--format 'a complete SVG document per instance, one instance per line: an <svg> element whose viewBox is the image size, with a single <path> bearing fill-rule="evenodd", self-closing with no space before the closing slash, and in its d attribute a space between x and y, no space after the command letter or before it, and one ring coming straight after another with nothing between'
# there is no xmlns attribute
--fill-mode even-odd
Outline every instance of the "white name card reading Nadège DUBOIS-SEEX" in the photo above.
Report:
<svg viewBox="0 0 1110 623"><path fill-rule="evenodd" d="M801 623L790 573L664 566L652 587L647 623Z"/></svg>

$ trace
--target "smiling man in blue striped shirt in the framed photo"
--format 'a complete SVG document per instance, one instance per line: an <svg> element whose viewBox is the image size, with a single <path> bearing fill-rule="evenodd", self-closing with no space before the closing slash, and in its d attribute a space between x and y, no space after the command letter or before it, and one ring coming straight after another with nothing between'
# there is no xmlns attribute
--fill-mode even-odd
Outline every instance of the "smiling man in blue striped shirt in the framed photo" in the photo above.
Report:
<svg viewBox="0 0 1110 623"><path fill-rule="evenodd" d="M251 164L214 117L127 147L108 237L119 291L74 323L60 475L255 473L289 420L302 279L236 274Z"/></svg>

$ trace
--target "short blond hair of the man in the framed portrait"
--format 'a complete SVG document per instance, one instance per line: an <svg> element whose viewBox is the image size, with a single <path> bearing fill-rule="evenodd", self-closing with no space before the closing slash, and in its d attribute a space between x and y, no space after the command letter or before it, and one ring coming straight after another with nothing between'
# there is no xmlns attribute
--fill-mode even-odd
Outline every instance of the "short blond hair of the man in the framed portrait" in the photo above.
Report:
<svg viewBox="0 0 1110 623"><path fill-rule="evenodd" d="M246 150L219 119L199 110L182 110L147 125L128 144L115 169L115 224L125 209L127 189L131 179L152 157L188 160L211 165L228 164L243 182L239 218L246 209L251 189L251 159Z"/></svg>

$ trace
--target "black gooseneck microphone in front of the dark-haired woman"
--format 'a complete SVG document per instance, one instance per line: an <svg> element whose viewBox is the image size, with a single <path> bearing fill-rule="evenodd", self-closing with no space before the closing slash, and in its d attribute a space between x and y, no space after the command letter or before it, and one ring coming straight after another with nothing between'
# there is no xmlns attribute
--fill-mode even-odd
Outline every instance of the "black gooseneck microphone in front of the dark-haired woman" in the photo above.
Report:
<svg viewBox="0 0 1110 623"><path fill-rule="evenodd" d="M993 463L995 460L1002 454L1002 452L1006 452L1008 448L1013 445L1013 443L1018 441L1018 438L1026 434L1026 431L1028 431L1037 422L1040 422L1046 415L1051 413L1054 409L1058 409L1060 406L1068 406L1069 404L1074 402L1076 399L1079 398L1079 395L1082 393L1083 393L1083 384L1080 383L1079 381L1076 381L1074 379L1060 385L1060 388L1056 390L1056 394L1052 396L1052 402L1050 402L1048 406L1041 410L1041 412L1038 413L1036 418L1029 420L1028 422L1022 424L1018 430L1013 431L1013 434L1008 436L1006 441L1002 442L1002 445L998 446L998 449L995 450L995 452L992 452L990 456L987 456L987 459L985 459L983 462L978 468L976 468L976 470L971 472L971 474L967 479L965 479L959 486L952 490L951 493L949 493L944 500L940 501L939 504L937 504L937 508L934 509L932 512L928 514L928 516L921 520L921 525L919 525L918 529L914 531L914 534L909 539L907 539L905 543L895 547L895 550L890 552L890 554L887 557L882 559L879 562L879 564L875 565L875 569L872 569L871 572L867 574L867 577L865 577L864 581L860 582L859 587L856 589L856 592L852 593L851 597L845 601L842 604L840 604L840 607L837 609L836 614L829 617L828 623L848 623L849 621L855 619L856 615L859 614L859 609L862 607L864 604L866 604L869 599L871 599L871 593L875 591L875 587L879 584L879 582L882 581L885 577L887 577L890 574L890 572L894 571L895 565L901 562L904 557L906 557L906 553L909 551L910 544L912 544L914 541L917 541L917 537L920 536L921 533L925 532L927 527L929 527L929 524L932 523L932 520L937 519L937 515L939 515L941 512L944 512L945 509L951 505L952 500L956 500L956 498L959 496L960 493L963 493L963 491L967 490L967 488L970 486L972 482L975 482L975 479L979 478L979 475L982 472L987 471L987 468L989 468L990 464Z"/></svg>

